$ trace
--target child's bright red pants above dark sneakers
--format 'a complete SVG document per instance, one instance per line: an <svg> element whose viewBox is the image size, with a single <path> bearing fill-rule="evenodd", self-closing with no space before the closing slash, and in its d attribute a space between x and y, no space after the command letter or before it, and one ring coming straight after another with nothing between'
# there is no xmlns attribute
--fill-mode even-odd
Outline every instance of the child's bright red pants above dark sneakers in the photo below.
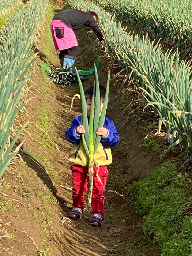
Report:
<svg viewBox="0 0 192 256"><path fill-rule="evenodd" d="M72 182L73 182L73 206L81 207L82 211L84 209L84 195L87 191L87 181L88 181L88 168L81 165L72 165ZM95 212L100 212L103 216L104 209L104 199L103 196L104 188L103 185L98 181L96 174L99 174L102 184L106 185L106 180L108 177L107 166L94 167L93 170L93 192L92 192L92 208L91 214Z"/></svg>

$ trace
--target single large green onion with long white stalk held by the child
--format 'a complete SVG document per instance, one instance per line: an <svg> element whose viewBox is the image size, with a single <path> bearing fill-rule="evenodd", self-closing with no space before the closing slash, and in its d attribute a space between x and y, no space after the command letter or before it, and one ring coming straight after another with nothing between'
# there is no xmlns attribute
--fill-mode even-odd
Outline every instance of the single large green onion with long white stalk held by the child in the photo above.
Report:
<svg viewBox="0 0 192 256"><path fill-rule="evenodd" d="M105 121L105 114L106 114L108 96L109 96L110 72L108 72L105 100L103 103L103 108L100 116L101 99L100 99L100 90L99 90L99 79L97 74L97 68L95 66L96 86L94 83L89 122L87 117L87 107L86 107L84 90L83 90L82 82L80 80L78 72L77 72L77 77L79 81L80 95L81 95L81 101L82 101L81 121L85 129L85 134L82 134L82 141L83 141L83 146L86 151L86 154L89 157L89 167L88 167L89 180L88 180L88 204L87 205L88 205L88 208L91 208L91 197L92 197L92 189L93 189L93 167L94 165L98 166L97 162L94 161L94 154L101 140L101 136L97 135L96 131L99 127L103 127L104 121Z"/></svg>

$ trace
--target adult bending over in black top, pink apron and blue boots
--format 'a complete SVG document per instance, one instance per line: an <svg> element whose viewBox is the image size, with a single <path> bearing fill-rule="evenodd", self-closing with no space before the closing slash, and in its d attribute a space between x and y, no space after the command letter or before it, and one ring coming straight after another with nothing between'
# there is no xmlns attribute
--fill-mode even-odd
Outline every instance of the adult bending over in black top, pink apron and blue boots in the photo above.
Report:
<svg viewBox="0 0 192 256"><path fill-rule="evenodd" d="M78 54L79 48L74 30L91 27L99 40L103 40L103 34L97 22L96 12L84 12L77 9L64 10L53 17L51 33L55 49L60 50L61 67L72 67Z"/></svg>

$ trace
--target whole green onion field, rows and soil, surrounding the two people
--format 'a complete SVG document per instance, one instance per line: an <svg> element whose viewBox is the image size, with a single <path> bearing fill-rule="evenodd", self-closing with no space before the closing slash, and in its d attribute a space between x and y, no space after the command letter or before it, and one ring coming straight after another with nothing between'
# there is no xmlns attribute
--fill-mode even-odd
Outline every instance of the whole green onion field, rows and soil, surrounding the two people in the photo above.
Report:
<svg viewBox="0 0 192 256"><path fill-rule="evenodd" d="M75 31L75 66L101 61L82 81L61 77L50 32L53 16L68 8L97 12L104 35L101 44L90 28ZM0 256L192 256L191 58L189 0L0 1ZM69 77L73 86L62 85ZM78 222L67 217L65 131L82 111L77 98L70 111L73 96L94 81L96 104L99 85L109 101L101 123L98 106L89 124L83 112L89 173L105 113L120 134L101 229L89 226L88 210Z"/></svg>

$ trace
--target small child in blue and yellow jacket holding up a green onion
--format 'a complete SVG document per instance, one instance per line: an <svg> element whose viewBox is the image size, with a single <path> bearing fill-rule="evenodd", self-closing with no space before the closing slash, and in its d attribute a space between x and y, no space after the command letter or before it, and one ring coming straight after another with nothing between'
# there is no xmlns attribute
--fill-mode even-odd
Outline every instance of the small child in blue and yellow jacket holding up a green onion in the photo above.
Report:
<svg viewBox="0 0 192 256"><path fill-rule="evenodd" d="M91 99L93 95L93 87L90 87L84 91L86 104L87 104L87 116L90 115L91 110ZM100 90L101 98L101 110L105 99L105 91ZM82 142L82 133L85 133L85 129L81 124L81 116L76 116L72 121L71 127L67 128L66 138L69 142L73 143L69 161L74 164L71 166L72 170L72 196L73 196L73 208L69 212L68 217L72 219L79 219L83 214L84 209L84 194L87 191L88 181L88 157L84 151ZM101 136L101 142L99 143L98 149L94 155L94 160L98 166L94 167L93 172L93 193L92 193L92 208L90 225L94 227L101 227L101 221L104 220L103 208L104 199L103 196L104 188L106 185L106 179L108 177L108 169L106 165L112 163L112 156L110 147L114 147L119 141L119 135L117 129L112 120L105 117L105 123L103 127L100 127L96 131L97 135ZM100 178L100 182L97 177L97 173ZM102 185L103 184L103 185Z"/></svg>

